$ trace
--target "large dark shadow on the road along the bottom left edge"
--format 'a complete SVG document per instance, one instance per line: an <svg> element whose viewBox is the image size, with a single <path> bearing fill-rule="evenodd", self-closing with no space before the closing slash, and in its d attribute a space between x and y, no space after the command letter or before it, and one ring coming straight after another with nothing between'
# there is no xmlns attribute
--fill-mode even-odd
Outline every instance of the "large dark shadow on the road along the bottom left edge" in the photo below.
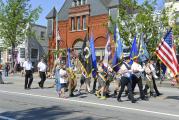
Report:
<svg viewBox="0 0 179 120"><path fill-rule="evenodd" d="M4 112L5 116L17 120L94 120L92 117L82 115L82 111L65 110L60 106L32 108L23 111Z"/></svg>

